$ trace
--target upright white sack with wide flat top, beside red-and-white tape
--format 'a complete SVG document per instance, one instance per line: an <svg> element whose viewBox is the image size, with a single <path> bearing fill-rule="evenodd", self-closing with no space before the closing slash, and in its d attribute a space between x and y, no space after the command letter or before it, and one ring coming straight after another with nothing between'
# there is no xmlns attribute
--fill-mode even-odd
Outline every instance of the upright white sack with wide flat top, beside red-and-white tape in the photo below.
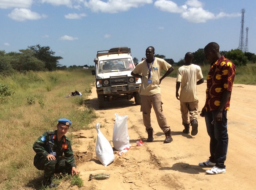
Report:
<svg viewBox="0 0 256 190"><path fill-rule="evenodd" d="M117 151L123 151L125 148L129 149L131 147L127 127L128 115L119 116L117 113L115 115L113 146Z"/></svg>

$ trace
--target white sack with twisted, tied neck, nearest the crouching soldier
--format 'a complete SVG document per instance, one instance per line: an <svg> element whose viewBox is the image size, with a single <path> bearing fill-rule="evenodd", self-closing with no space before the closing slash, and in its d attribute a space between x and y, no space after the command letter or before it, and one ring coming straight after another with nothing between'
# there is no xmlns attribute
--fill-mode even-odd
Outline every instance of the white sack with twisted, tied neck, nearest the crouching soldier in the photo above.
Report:
<svg viewBox="0 0 256 190"><path fill-rule="evenodd" d="M102 132L100 132L100 123L96 123L95 127L97 130L96 156L103 166L107 166L115 159L113 148Z"/></svg>

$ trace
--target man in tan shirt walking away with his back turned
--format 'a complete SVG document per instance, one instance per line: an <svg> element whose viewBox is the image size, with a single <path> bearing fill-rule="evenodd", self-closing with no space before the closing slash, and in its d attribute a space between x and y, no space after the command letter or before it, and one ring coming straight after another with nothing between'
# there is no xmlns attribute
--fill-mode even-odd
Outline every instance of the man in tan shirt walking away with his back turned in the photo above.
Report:
<svg viewBox="0 0 256 190"><path fill-rule="evenodd" d="M187 52L184 57L185 64L178 69L176 80L176 98L180 100L182 125L185 128L182 132L189 134L191 125L191 135L194 136L198 132L197 85L202 84L204 82L204 78L200 66L192 64L192 60L193 53Z"/></svg>

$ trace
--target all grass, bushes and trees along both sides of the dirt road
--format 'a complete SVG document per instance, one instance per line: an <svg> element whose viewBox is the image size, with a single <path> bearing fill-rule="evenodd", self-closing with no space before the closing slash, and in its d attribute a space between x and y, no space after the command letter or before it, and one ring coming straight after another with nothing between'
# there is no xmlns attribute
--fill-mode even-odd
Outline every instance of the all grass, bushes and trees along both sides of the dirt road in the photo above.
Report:
<svg viewBox="0 0 256 190"><path fill-rule="evenodd" d="M68 118L72 126L67 136L76 142L72 132L89 129L89 124L97 118L94 109L86 105L94 81L91 75L94 66L67 68L58 62L62 57L54 54L50 47L40 45L29 46L19 53L0 50L1 190L45 190L41 187L43 171L33 166L34 141L46 130L55 130L59 118ZM256 84L255 54L239 50L223 51L222 54L237 64L236 84ZM156 57L172 64L175 70L169 75L171 77L177 76L184 62L181 59L175 63L159 54ZM139 62L135 57L134 61ZM205 61L203 49L194 52L194 63L201 66L206 80L210 65ZM76 90L82 96L66 98ZM78 187L83 185L79 176L65 176L61 180L69 180L71 185Z"/></svg>

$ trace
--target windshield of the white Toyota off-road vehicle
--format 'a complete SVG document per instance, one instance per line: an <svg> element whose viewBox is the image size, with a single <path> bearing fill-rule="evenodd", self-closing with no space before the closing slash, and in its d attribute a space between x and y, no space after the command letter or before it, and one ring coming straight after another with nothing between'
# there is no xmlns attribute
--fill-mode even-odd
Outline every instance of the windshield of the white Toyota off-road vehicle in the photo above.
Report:
<svg viewBox="0 0 256 190"><path fill-rule="evenodd" d="M132 70L134 66L131 58L115 59L115 60L103 60L99 61L98 71L99 73L112 72L112 71L124 71Z"/></svg>

